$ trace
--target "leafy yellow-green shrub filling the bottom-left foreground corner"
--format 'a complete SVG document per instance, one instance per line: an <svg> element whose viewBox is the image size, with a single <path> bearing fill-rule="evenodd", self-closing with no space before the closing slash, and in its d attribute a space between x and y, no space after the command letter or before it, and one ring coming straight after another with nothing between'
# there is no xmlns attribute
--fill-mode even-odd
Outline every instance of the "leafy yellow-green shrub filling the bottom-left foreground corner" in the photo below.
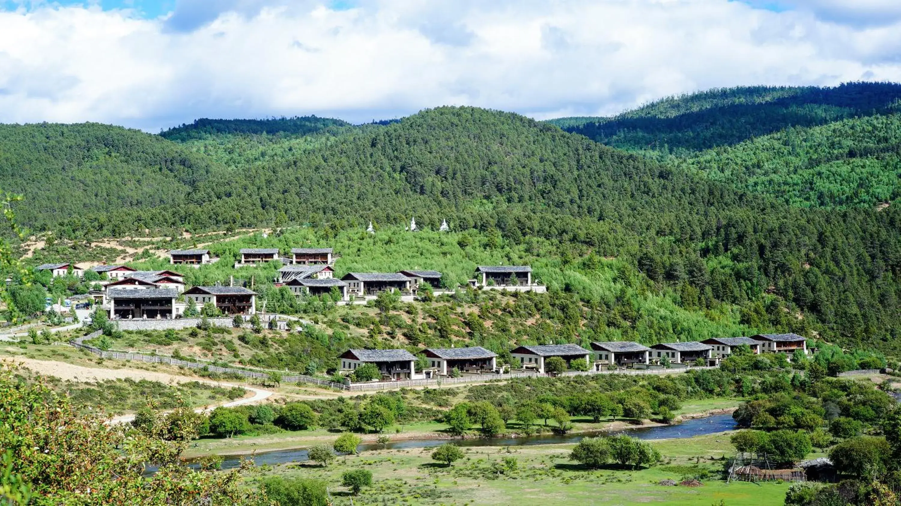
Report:
<svg viewBox="0 0 901 506"><path fill-rule="evenodd" d="M193 470L179 455L201 419L185 407L141 429L107 425L79 414L67 398L0 368L0 503L23 504L262 504L242 485L241 469ZM147 466L158 466L152 476ZM251 495L252 494L252 495ZM252 501L251 501L252 497Z"/></svg>

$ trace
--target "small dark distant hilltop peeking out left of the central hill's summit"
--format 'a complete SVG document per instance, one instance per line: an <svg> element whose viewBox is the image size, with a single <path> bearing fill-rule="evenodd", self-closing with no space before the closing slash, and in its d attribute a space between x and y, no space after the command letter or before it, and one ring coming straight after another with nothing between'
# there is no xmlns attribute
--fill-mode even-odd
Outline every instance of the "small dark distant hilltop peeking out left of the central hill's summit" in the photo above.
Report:
<svg viewBox="0 0 901 506"><path fill-rule="evenodd" d="M191 124L183 124L161 131L159 135L168 140L184 142L186 140L211 139L223 134L304 136L334 129L335 127L348 126L350 126L349 122L316 116L294 116L268 120L211 120L209 118L200 118Z"/></svg>

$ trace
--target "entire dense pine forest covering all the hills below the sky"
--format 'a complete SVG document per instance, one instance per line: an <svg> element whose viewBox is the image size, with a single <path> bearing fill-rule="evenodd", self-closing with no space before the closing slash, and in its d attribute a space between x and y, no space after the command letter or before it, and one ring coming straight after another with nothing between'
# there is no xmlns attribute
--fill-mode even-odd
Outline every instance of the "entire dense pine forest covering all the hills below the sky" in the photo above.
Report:
<svg viewBox="0 0 901 506"><path fill-rule="evenodd" d="M288 225L352 237L368 221L447 219L484 248L589 278L615 258L616 276L640 278L623 285L711 320L741 312L751 328L889 349L901 213L873 204L897 192L899 96L891 84L714 90L558 122L576 133L471 107L362 126L198 120L159 136L5 125L0 181L25 197L20 221L58 239Z"/></svg>

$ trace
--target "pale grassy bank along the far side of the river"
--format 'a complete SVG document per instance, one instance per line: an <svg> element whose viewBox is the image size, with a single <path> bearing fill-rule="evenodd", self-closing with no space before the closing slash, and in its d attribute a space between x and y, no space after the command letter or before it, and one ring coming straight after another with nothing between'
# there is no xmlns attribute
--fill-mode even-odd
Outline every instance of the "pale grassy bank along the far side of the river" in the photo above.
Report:
<svg viewBox="0 0 901 506"><path fill-rule="evenodd" d="M724 399L721 403L734 404L741 402L739 400ZM706 404L712 404L708 400ZM691 406L688 406L689 408ZM727 407L716 407L706 411L688 412L678 416L678 420L696 420L719 414L732 413L737 409L736 406L729 405ZM667 427L657 421L644 420L642 423L632 423L626 420L606 420L599 423L587 422L587 420L574 419L575 429L570 431L570 435L585 435L598 432L618 432L633 429L653 429ZM392 442L409 441L414 439L481 439L478 435L469 435L464 438L452 436L446 429L447 425L438 422L421 422L412 425L406 425L395 428L395 432L390 429L382 434L359 434L363 444L374 444L380 436L387 436ZM544 429L539 427L539 429ZM545 431L545 434L547 431ZM282 450L302 449L312 447L317 444L331 444L335 438L341 435L341 431L332 432L327 429L316 430L300 430L296 432L283 432L278 434L270 434L266 436L253 437L237 437L213 439L205 438L196 440L191 447L182 454L185 458L194 458L198 456L220 455L220 456L242 456L250 455L256 452L274 452ZM533 437L533 436L532 436ZM503 438L529 438L516 433L508 433Z"/></svg>

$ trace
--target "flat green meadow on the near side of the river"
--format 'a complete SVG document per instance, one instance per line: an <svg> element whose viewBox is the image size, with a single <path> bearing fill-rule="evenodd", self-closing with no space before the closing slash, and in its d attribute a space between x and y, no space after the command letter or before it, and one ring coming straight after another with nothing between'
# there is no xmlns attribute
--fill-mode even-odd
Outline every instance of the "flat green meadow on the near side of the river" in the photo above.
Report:
<svg viewBox="0 0 901 506"><path fill-rule="evenodd" d="M718 471L724 456L731 455L728 433L691 439L655 441L664 463L638 471L610 469L589 471L569 460L571 445L536 447L469 447L466 457L451 467L436 465L430 449L387 450L341 458L327 468L318 465L279 465L273 474L316 477L327 480L335 504L350 504L340 486L343 471L372 471L373 487L353 504L518 504L675 505L719 504L767 506L781 504L787 483L725 483L705 478L702 486L662 486L660 480L680 481L686 473ZM516 458L518 469L496 474L492 463Z"/></svg>

